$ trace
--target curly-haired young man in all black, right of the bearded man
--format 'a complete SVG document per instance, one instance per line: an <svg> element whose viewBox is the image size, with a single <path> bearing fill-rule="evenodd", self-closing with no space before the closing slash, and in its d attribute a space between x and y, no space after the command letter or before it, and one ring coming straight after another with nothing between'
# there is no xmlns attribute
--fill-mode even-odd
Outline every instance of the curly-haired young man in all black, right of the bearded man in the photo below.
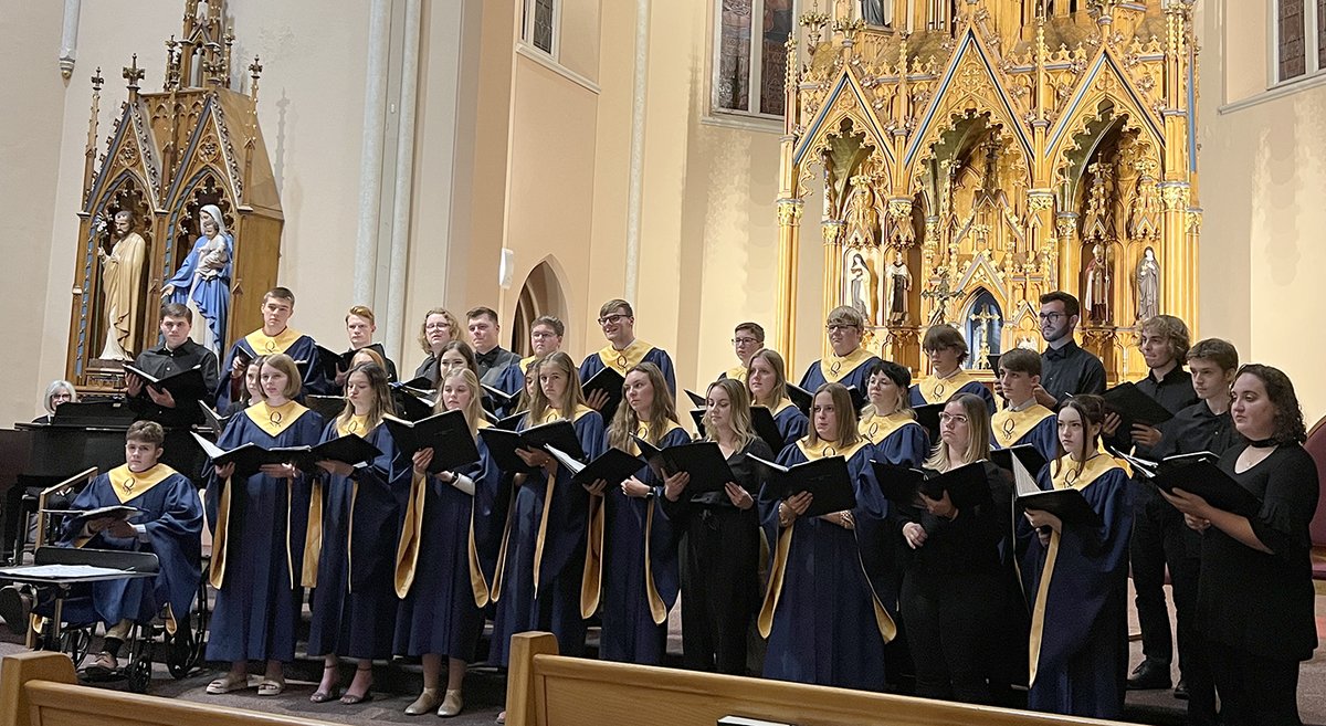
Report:
<svg viewBox="0 0 1326 726"><path fill-rule="evenodd" d="M1171 413L1197 403L1192 389L1192 376L1183 370L1188 356L1188 326L1174 315L1155 315L1140 326L1142 358L1147 362L1147 378L1136 383L1138 389L1155 399ZM1160 442L1159 429L1132 424L1131 431L1119 431L1119 415L1105 417L1105 433L1110 446L1119 450L1134 449L1136 456L1154 458L1152 446ZM1174 656L1174 635L1170 632L1170 609L1166 607L1164 574L1166 564L1174 575L1184 558L1183 519L1179 513L1164 502L1155 488L1138 482L1132 488L1132 541L1128 559L1132 568L1134 604L1138 608L1138 624L1142 627L1142 653L1146 658L1128 677L1131 689L1170 688L1170 662ZM1188 608L1180 604L1195 594L1189 583L1172 583L1175 605L1187 615ZM1180 632L1187 635L1188 623L1180 624ZM1183 684L1185 665L1185 637L1180 637L1179 672ZM1180 696L1183 696L1180 688Z"/></svg>

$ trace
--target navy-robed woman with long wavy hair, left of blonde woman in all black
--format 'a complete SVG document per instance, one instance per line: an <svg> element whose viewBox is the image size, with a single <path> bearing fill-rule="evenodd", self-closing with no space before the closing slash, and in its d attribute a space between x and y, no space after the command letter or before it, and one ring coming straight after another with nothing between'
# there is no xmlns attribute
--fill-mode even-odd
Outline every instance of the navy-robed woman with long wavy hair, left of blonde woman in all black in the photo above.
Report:
<svg viewBox="0 0 1326 726"><path fill-rule="evenodd" d="M676 423L676 404L658 366L634 366L622 388L607 446L639 456L636 436L660 449L691 440ZM686 478L686 472L674 472L666 481L675 486ZM581 615L601 613L598 654L603 660L663 661L667 613L679 587L676 539L659 505L663 484L646 465L625 481L591 485Z"/></svg>

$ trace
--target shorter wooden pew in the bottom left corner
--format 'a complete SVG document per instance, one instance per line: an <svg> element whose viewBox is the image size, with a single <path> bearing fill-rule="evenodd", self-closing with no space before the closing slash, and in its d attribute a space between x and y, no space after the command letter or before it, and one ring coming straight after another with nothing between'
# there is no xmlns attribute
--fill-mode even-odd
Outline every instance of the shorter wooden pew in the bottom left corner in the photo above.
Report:
<svg viewBox="0 0 1326 726"><path fill-rule="evenodd" d="M223 709L78 685L61 653L5 656L0 726L333 726L326 721Z"/></svg>

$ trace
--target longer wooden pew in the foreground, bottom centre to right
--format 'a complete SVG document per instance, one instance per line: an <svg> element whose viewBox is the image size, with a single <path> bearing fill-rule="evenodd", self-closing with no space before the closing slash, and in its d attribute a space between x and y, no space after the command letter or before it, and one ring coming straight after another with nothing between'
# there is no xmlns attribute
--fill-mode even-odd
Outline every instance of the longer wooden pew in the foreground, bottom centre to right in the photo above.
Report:
<svg viewBox="0 0 1326 726"><path fill-rule="evenodd" d="M797 726L1113 723L760 678L570 658L550 633L512 637L508 726L708 726L740 715Z"/></svg>

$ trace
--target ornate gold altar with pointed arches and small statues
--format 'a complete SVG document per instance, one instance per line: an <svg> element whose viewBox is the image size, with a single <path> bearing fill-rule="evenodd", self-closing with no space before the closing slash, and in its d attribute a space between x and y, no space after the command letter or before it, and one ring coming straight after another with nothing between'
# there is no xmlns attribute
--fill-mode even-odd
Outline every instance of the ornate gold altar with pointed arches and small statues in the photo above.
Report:
<svg viewBox="0 0 1326 726"><path fill-rule="evenodd" d="M1195 326L1191 0L829 0L801 25L777 203L782 351L822 338L794 329L817 178L821 303L859 309L867 347L914 371L944 322L976 370L980 354L1040 348L1037 299L1057 289L1082 301L1082 343L1110 380L1146 372L1139 317Z"/></svg>

